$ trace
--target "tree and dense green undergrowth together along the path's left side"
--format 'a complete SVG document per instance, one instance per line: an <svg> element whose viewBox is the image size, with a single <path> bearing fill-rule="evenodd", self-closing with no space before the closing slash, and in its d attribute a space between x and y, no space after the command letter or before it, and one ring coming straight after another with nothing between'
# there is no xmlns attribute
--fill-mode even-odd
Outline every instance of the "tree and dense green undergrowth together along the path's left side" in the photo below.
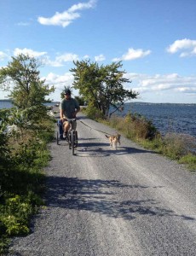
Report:
<svg viewBox="0 0 196 256"><path fill-rule="evenodd" d="M9 236L29 231L29 219L42 203L46 143L54 134L43 103L54 87L39 78L40 65L19 55L0 69L0 88L9 91L16 107L0 109L0 254Z"/></svg>

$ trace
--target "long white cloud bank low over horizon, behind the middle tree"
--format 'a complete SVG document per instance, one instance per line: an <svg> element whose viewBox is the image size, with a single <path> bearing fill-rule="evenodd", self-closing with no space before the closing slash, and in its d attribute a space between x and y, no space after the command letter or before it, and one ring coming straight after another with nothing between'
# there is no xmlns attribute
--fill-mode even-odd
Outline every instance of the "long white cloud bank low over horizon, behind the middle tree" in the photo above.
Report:
<svg viewBox="0 0 196 256"><path fill-rule="evenodd" d="M166 102L168 96L189 96L192 102L196 100L196 76L182 77L177 73L170 74L154 74L149 76L147 74L140 73L126 73L124 78L130 79L132 83L124 84L125 89L132 89L140 93L138 100L144 99L145 96L152 96L156 99L156 96L166 96ZM55 100L59 101L61 98L61 91L64 86L72 86L74 77L72 73L64 73L62 75L49 73L46 77L47 84L55 85ZM77 91L73 90L73 93L77 95Z"/></svg>

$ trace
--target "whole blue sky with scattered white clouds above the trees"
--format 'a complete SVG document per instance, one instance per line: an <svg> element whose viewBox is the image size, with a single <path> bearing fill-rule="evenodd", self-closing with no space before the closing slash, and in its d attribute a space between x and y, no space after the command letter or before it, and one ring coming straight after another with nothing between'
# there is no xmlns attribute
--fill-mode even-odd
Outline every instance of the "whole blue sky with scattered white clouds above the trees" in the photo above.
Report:
<svg viewBox="0 0 196 256"><path fill-rule="evenodd" d="M59 101L72 61L122 61L138 101L196 103L195 14L195 0L0 0L0 67L20 53L42 59Z"/></svg>

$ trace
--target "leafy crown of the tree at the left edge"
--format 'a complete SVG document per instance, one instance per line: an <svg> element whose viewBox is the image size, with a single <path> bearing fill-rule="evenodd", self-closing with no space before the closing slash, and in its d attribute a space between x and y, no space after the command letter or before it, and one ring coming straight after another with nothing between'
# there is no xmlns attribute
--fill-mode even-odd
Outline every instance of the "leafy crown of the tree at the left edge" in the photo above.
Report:
<svg viewBox="0 0 196 256"><path fill-rule="evenodd" d="M17 108L41 106L50 101L45 96L49 96L55 88L44 84L45 80L39 78L37 68L40 66L36 58L20 54L12 57L7 67L0 69L0 87L10 92L9 97Z"/></svg>

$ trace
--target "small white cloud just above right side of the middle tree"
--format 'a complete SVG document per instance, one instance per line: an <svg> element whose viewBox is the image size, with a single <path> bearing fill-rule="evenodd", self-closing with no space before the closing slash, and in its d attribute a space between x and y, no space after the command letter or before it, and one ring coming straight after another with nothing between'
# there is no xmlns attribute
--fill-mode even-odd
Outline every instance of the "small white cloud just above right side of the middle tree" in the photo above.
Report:
<svg viewBox="0 0 196 256"><path fill-rule="evenodd" d="M151 50L144 51L143 49L128 49L128 52L122 55L120 58L114 58L112 61L132 61L135 59L143 58L151 54Z"/></svg>

